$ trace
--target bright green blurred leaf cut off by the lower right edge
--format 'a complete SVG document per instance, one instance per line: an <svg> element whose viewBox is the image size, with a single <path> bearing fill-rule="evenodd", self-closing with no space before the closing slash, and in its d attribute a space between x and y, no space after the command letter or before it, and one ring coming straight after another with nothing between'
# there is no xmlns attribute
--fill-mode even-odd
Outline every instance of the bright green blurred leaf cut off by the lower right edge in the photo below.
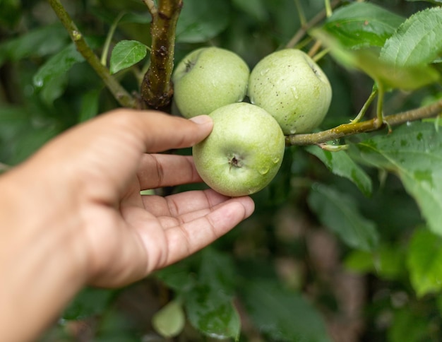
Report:
<svg viewBox="0 0 442 342"><path fill-rule="evenodd" d="M416 230L407 255L410 281L419 297L442 290L442 237Z"/></svg>

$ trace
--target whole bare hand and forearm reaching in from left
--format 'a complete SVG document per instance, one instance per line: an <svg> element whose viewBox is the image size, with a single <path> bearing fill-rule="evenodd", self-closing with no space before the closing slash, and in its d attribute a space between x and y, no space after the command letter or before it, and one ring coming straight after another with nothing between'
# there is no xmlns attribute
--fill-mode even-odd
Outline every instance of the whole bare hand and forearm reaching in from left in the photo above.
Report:
<svg viewBox="0 0 442 342"><path fill-rule="evenodd" d="M136 281L251 215L249 197L212 190L141 196L201 181L191 157L157 154L210 134L209 117L194 120L116 110L66 131L0 177L5 341L34 339L84 285Z"/></svg>

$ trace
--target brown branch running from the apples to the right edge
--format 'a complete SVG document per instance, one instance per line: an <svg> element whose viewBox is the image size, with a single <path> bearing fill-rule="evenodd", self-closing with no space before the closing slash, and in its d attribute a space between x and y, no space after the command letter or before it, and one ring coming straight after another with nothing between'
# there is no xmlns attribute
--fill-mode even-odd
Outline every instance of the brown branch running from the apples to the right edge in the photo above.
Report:
<svg viewBox="0 0 442 342"><path fill-rule="evenodd" d="M398 114L388 115L383 117L383 123L379 124L378 118L367 120L364 122L355 122L352 124L341 124L333 129L321 131L311 134L292 134L285 137L287 146L297 145L316 145L318 143L325 143L333 141L345 136L352 136L354 134L376 131L384 126L397 126L398 124L405 124L405 122L415 121L418 119L425 119L429 117L436 117L442 113L442 100L427 105L425 107L417 108L415 110L407 110Z"/></svg>

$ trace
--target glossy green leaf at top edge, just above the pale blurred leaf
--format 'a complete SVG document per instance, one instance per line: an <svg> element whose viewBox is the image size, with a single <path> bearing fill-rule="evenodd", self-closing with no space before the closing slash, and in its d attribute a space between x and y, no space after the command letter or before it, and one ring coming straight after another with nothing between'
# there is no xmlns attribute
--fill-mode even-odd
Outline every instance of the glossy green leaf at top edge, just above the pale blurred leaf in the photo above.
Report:
<svg viewBox="0 0 442 342"><path fill-rule="evenodd" d="M345 47L382 47L404 20L380 6L354 2L335 10L323 29Z"/></svg>

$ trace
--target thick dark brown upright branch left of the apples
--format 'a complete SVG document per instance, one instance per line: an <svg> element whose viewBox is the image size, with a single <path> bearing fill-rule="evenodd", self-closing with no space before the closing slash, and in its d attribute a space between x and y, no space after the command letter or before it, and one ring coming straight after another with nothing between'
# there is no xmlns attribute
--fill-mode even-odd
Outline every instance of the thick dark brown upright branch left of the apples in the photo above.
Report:
<svg viewBox="0 0 442 342"><path fill-rule="evenodd" d="M141 83L141 98L155 109L166 107L172 98L175 29L182 6L182 0L160 0L153 13L150 67Z"/></svg>

